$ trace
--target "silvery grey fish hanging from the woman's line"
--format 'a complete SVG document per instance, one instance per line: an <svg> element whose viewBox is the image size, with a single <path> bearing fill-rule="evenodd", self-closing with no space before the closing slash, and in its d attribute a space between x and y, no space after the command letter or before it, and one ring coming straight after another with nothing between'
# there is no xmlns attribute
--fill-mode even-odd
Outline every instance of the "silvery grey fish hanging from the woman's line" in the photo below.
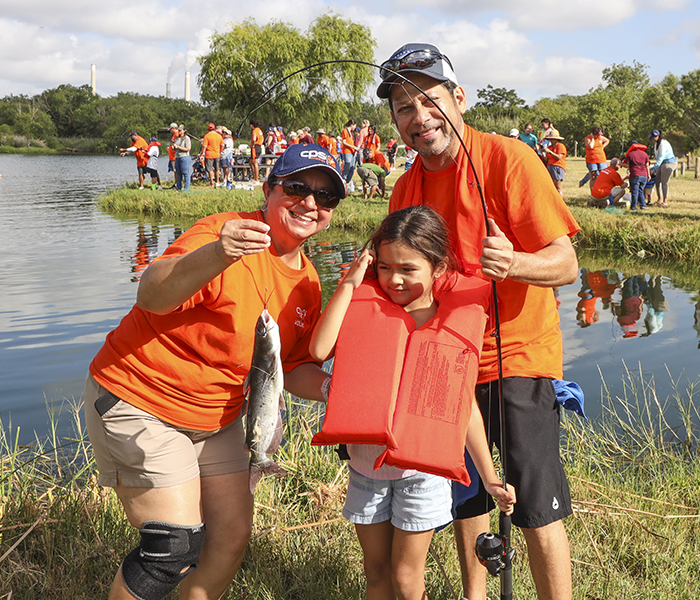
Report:
<svg viewBox="0 0 700 600"><path fill-rule="evenodd" d="M253 495L263 475L287 475L287 471L269 458L279 448L283 434L281 346L279 326L267 308L263 308L255 324L253 360L245 382L248 394L245 443L250 450L249 485Z"/></svg>

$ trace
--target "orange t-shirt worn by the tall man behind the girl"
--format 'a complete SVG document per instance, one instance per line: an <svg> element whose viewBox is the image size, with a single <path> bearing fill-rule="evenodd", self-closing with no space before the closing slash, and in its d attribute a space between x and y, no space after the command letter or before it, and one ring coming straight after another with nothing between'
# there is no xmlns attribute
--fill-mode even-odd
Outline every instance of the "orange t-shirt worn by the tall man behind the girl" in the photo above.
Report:
<svg viewBox="0 0 700 600"><path fill-rule="evenodd" d="M573 236L579 227L544 165L526 144L484 134L465 126L465 143L474 160L489 217L516 252L536 252L555 239ZM460 270L478 269L485 236L484 214L474 172L464 152L457 163L438 172L413 166L394 186L389 211L426 204L447 221ZM458 187L459 183L459 187ZM562 378L559 314L551 288L507 279L499 283L503 373L505 376ZM479 368L479 383L498 378L496 341L489 334Z"/></svg>

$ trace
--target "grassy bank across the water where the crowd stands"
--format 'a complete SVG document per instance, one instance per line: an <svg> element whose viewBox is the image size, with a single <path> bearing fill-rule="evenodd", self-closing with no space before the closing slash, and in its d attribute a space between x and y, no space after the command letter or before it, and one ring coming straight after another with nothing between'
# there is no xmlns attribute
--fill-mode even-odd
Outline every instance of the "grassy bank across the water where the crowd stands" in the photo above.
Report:
<svg viewBox="0 0 700 600"><path fill-rule="evenodd" d="M700 179L695 179L693 171L671 180L668 208L631 212L617 207L605 211L588 208L588 186L578 186L586 172L584 160L569 158L567 167L564 199L581 226L575 238L577 246L642 257L700 260ZM387 178L387 197L402 173L403 169L397 169ZM226 190L200 184L193 186L189 194L178 194L169 190L138 190L136 185L130 185L106 194L100 199L100 205L110 213L194 220L227 210L253 210L260 207L262 201L260 188ZM387 206L388 200L379 197L364 200L362 194L356 192L335 209L331 228L364 236L384 218Z"/></svg>

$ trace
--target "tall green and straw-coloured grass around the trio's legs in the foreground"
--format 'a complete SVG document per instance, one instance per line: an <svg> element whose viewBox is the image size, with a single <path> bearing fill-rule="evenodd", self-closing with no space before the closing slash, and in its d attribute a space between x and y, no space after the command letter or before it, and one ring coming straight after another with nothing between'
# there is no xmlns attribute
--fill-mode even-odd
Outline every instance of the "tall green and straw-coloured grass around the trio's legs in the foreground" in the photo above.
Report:
<svg viewBox="0 0 700 600"><path fill-rule="evenodd" d="M575 599L694 599L700 594L699 385L676 381L674 396L661 400L653 377L628 372L617 392L601 383L600 418L563 418L562 459L574 505L565 524ZM224 598L361 598L361 552L340 512L346 469L331 448L310 444L319 406L287 402L291 416L278 461L290 475L264 479L258 486L252 540ZM69 439L50 434L22 447L16 434L0 430L3 600L9 594L104 598L119 562L136 544L135 530L114 493L96 485L76 410L73 406ZM682 415L680 428L668 425L672 411ZM534 599L526 548L515 528L513 544L515 597ZM447 600L453 597L451 587L459 591L450 528L435 536L433 547L428 593L433 600ZM497 598L498 593L498 581L489 579L489 595Z"/></svg>

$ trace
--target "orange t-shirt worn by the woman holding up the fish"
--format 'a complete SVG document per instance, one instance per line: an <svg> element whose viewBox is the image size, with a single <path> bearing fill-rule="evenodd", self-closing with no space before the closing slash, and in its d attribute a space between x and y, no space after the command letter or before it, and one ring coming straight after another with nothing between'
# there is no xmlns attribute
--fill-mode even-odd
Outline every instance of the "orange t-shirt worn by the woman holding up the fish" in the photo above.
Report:
<svg viewBox="0 0 700 600"><path fill-rule="evenodd" d="M230 219L262 220L234 212L197 221L163 254L186 254L216 241ZM243 382L263 307L277 321L286 372L313 362L309 341L321 311L321 285L311 262L292 269L271 250L246 256L167 315L134 306L90 365L110 392L178 427L213 431L231 423L243 405Z"/></svg>

